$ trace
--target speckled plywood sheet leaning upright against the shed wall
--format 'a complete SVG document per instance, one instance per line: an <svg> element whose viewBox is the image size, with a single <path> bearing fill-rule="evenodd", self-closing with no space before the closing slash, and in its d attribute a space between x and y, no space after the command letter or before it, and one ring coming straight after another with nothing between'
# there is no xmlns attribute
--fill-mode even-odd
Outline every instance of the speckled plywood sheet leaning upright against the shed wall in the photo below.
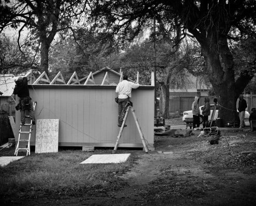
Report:
<svg viewBox="0 0 256 206"><path fill-rule="evenodd" d="M36 121L36 153L58 151L59 119L37 119Z"/></svg>

